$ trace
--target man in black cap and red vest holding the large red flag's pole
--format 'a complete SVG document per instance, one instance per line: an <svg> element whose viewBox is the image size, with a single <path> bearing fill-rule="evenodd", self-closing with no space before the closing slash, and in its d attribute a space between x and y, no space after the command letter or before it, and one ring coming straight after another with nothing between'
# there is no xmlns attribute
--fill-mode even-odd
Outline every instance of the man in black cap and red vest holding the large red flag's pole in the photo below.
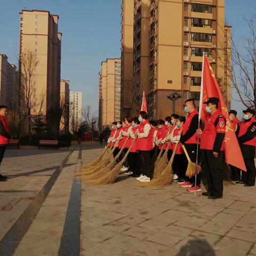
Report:
<svg viewBox="0 0 256 256"><path fill-rule="evenodd" d="M204 131L197 130L202 153L202 171L206 174L208 189L203 196L209 199L222 198L223 194L223 159L226 118L218 110L219 99L212 97L206 102L206 120Z"/></svg>

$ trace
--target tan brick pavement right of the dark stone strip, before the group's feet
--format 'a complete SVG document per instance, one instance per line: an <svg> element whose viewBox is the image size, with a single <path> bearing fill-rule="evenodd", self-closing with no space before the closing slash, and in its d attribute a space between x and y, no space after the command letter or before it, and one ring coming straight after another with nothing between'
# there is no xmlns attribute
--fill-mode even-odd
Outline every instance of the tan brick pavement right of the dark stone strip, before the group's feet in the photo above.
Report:
<svg viewBox="0 0 256 256"><path fill-rule="evenodd" d="M101 151L85 149L83 162ZM256 188L231 185L213 201L202 191L143 188L125 175L113 185L83 182L80 255L256 255Z"/></svg>

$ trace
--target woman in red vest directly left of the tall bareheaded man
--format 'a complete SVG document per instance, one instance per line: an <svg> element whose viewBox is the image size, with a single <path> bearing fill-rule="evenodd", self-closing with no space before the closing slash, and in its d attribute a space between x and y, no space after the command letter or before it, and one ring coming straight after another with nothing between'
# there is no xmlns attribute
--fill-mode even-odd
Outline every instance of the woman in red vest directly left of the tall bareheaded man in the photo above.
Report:
<svg viewBox="0 0 256 256"><path fill-rule="evenodd" d="M180 179L186 178L186 169L187 169L184 151L179 143L185 122L186 122L185 116L178 117L175 123L177 128L173 130L173 137L172 137L173 150L175 148L175 143L178 143L177 150L175 152L175 156L173 159L173 165L172 165L173 173L176 174L176 176L179 177Z"/></svg>

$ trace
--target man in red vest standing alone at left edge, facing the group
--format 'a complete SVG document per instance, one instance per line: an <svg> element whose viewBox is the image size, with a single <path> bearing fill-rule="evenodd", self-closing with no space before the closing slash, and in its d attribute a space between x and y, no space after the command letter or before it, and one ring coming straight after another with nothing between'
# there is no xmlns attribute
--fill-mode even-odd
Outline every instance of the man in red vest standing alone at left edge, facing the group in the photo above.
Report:
<svg viewBox="0 0 256 256"><path fill-rule="evenodd" d="M0 106L0 164L2 163L6 146L9 144L11 134L9 133L8 124L5 116L7 114L7 107ZM0 181L7 181L7 177L0 174Z"/></svg>

